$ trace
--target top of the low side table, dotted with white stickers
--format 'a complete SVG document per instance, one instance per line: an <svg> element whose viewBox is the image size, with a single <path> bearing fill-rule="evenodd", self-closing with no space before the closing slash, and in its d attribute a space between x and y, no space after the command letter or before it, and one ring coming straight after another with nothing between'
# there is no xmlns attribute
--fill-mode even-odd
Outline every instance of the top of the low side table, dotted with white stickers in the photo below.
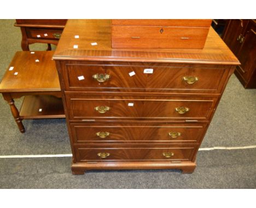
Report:
<svg viewBox="0 0 256 208"><path fill-rule="evenodd" d="M54 51L19 51L0 83L0 93L60 91Z"/></svg>

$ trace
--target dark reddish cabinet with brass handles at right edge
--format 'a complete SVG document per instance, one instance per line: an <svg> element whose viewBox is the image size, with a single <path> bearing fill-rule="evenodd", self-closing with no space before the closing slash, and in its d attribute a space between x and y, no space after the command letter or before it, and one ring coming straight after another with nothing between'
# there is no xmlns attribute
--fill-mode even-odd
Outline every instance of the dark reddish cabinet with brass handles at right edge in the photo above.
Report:
<svg viewBox="0 0 256 208"><path fill-rule="evenodd" d="M255 20L229 20L223 40L240 60L235 75L245 88L256 88L256 22Z"/></svg>

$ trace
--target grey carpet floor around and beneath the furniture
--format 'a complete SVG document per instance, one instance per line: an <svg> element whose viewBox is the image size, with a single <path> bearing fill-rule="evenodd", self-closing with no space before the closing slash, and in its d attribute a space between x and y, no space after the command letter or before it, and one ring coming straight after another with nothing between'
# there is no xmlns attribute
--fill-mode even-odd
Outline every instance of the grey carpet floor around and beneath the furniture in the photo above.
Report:
<svg viewBox="0 0 256 208"><path fill-rule="evenodd" d="M0 77L21 51L15 20L0 20ZM45 50L33 44L31 50ZM20 106L21 100L16 101ZM70 154L65 119L24 120L21 134L0 97L0 155ZM232 75L201 147L256 144L256 90L245 90ZM71 173L71 158L0 159L0 188L255 188L256 150L214 150L197 154L193 174L178 170Z"/></svg>

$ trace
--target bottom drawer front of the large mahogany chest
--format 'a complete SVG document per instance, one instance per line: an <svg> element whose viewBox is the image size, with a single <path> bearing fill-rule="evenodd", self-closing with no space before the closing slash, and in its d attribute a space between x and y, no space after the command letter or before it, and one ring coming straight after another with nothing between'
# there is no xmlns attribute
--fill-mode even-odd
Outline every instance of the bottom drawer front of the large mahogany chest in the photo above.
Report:
<svg viewBox="0 0 256 208"><path fill-rule="evenodd" d="M74 148L77 162L191 161L195 148Z"/></svg>

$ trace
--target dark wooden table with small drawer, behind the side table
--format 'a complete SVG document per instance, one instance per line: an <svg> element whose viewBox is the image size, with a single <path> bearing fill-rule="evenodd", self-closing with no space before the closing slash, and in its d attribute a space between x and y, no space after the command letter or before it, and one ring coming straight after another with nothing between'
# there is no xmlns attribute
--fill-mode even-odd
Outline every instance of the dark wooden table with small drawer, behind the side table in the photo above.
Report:
<svg viewBox="0 0 256 208"><path fill-rule="evenodd" d="M23 51L29 51L29 45L34 43L48 44L47 50L51 50L51 45L57 45L59 38L54 34L60 34L66 25L67 20L33 20L33 19L20 19L16 20L14 26L20 27L22 40L21 48ZM38 36L40 35L40 36Z"/></svg>

